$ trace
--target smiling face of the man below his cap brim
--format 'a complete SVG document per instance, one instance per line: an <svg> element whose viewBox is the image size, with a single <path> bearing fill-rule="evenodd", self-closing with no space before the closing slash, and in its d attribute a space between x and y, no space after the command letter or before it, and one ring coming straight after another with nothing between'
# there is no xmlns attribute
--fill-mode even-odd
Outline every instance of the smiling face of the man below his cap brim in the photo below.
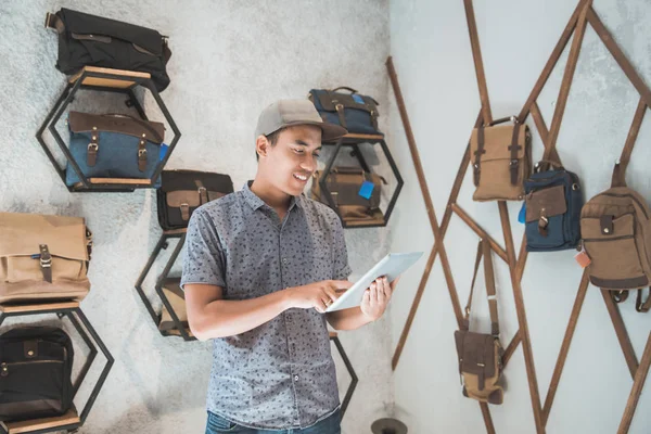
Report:
<svg viewBox="0 0 651 434"><path fill-rule="evenodd" d="M283 129L264 158L271 183L286 194L299 195L317 169L320 152L321 128L299 125Z"/></svg>

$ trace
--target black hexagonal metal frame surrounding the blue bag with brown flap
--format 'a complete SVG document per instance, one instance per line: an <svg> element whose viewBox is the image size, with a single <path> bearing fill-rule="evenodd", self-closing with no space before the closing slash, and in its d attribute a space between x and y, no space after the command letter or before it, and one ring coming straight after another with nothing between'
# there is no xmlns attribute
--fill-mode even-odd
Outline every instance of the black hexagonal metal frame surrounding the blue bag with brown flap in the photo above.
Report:
<svg viewBox="0 0 651 434"><path fill-rule="evenodd" d="M106 78L106 79L114 79L114 80L119 80L119 81L133 81L133 85L129 86L128 88L111 88L111 87L84 85L84 80L89 77ZM146 117L146 114L144 113L144 108L142 107L142 105L138 101L138 98L136 97L136 93L133 92L133 89L137 88L138 86L142 86L142 87L149 89L149 91L154 97L154 100L158 104L161 112L163 112L163 115L165 116L165 120L167 120L171 130L174 131L174 139L169 143L167 152L165 153L165 157L158 162L158 165L156 166L156 169L154 170L154 175L150 179L151 183L129 183L129 184L90 183L88 178L86 178L86 176L84 176L84 174L81 173L79 165L73 157L73 154L71 153L69 149L67 148L67 145L61 138L61 135L56 130L56 123L59 122L59 119L61 118L63 113L65 112L66 107L73 101L73 99L75 98L75 94L77 93L77 91L79 89L89 89L89 90L114 92L114 93L125 93L128 95L128 99L125 102L126 105L129 107L130 106L136 107L136 111L140 115L140 117L144 120L149 120ZM66 184L65 168L62 168L59 166L59 163L56 163L54 155L52 154L52 152L50 151L50 149L48 148L48 145L46 144L46 142L43 140L42 136L43 136L46 128L48 128L50 130L50 132L52 133L52 136L54 137L54 140L59 144L59 148L64 153L66 159L69 162L71 166L73 167L73 169L75 170L75 173L77 174L79 179L81 180L82 187L76 188L74 186L68 187ZM54 104L54 106L52 107L50 113L48 114L48 117L46 117L46 120L42 123L42 125L36 132L36 139L38 140L41 148L46 152L46 155L48 155L48 158L50 158L50 162L56 169L56 173L61 177L61 180L63 181L64 184L66 184L66 188L71 192L133 192L137 188L153 188L157 178L161 176L163 168L167 164L167 161L169 159L169 156L171 155L171 152L174 151L180 137L181 137L181 131L179 131L176 123L174 122L174 118L171 117L171 115L169 114L169 111L167 110L167 106L161 99L161 95L158 94L158 91L156 90L156 87L154 86L154 82L152 81L151 78L137 77L137 76L124 76L124 75L116 75L116 74L111 74L111 73L102 73L102 72L87 71L87 69L82 69L81 75L77 78L77 80L75 80L74 82L67 82L65 89L63 90L63 92L61 93L59 99L56 100L56 103Z"/></svg>

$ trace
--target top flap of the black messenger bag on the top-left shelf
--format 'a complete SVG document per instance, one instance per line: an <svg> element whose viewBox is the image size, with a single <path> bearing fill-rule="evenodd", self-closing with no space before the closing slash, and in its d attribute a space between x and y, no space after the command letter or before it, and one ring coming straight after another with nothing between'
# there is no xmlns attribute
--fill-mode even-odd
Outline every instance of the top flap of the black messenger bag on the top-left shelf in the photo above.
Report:
<svg viewBox="0 0 651 434"><path fill-rule="evenodd" d="M66 31L77 35L102 35L137 43L155 55L163 53L163 37L157 30L62 8Z"/></svg>

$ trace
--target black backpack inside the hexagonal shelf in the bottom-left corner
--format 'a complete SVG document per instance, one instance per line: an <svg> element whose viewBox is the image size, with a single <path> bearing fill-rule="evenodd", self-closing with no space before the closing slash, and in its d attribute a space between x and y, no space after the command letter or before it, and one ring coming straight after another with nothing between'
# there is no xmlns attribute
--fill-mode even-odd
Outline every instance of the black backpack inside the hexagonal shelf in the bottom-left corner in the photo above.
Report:
<svg viewBox="0 0 651 434"><path fill-rule="evenodd" d="M54 327L0 335L0 420L65 414L73 405L73 343Z"/></svg>

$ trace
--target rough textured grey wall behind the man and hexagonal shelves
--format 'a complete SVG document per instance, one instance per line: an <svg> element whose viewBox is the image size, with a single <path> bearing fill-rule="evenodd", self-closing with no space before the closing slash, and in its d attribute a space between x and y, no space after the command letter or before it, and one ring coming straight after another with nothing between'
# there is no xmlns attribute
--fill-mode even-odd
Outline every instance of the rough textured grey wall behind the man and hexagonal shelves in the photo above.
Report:
<svg viewBox="0 0 651 434"><path fill-rule="evenodd" d="M312 87L347 85L374 95L385 107L381 124L388 125L388 3L0 2L0 209L84 216L94 233L92 290L82 308L116 362L80 432L200 433L212 346L161 336L133 290L161 233L154 192L71 194L34 139L64 86L64 76L54 68L56 37L42 27L44 13L60 7L170 36L171 85L162 97L183 136L168 168L229 174L239 189L255 175L257 115L276 99L303 98ZM94 113L125 108L115 95L97 92L79 94L73 107ZM162 120L151 99L145 108L151 118ZM64 129L62 123L60 130ZM48 142L54 144L49 137ZM385 174L382 159L375 164ZM355 278L386 252L388 230L347 231L346 240ZM145 281L150 294L168 254ZM385 319L341 334L360 379L343 423L345 433L369 432L373 420L391 411L390 336ZM336 355L335 360L343 396L349 378ZM98 373L93 370L89 380ZM80 398L88 396L90 385Z"/></svg>

